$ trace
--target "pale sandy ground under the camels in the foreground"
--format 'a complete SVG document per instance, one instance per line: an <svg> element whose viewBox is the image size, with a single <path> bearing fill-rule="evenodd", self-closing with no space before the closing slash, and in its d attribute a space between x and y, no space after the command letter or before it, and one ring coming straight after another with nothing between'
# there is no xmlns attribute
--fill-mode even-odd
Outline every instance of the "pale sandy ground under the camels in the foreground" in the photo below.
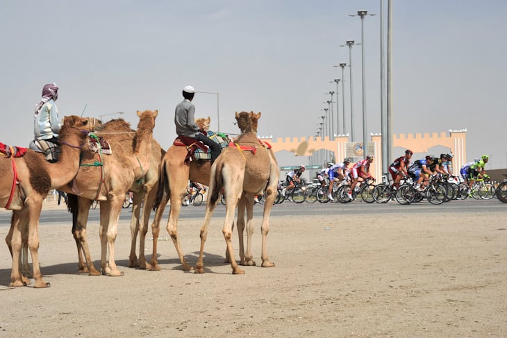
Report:
<svg viewBox="0 0 507 338"><path fill-rule="evenodd" d="M203 275L181 271L165 229L163 269L127 268L127 222L116 241L124 276L77 275L69 227L44 226L48 289L8 287L11 261L0 246L0 337L507 337L507 208L438 214L435 207L343 222L313 207L307 217L272 217L276 267L244 267L242 276L223 262L221 217L211 223ZM201 219L179 223L191 264L200 226ZM99 267L99 226L88 228ZM253 253L260 264L258 227Z"/></svg>

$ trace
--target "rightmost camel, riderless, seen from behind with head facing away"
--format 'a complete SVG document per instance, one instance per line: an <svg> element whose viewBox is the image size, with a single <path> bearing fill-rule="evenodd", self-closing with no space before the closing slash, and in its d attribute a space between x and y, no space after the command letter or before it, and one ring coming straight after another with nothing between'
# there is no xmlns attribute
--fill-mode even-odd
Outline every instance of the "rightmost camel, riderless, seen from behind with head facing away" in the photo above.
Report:
<svg viewBox="0 0 507 338"><path fill-rule="evenodd" d="M226 217L222 233L227 245L226 257L231 262L233 274L242 274L244 271L238 267L234 259L232 246L232 230L234 212L238 206L238 235L240 237L240 263L254 265L251 254L251 235L253 234L253 196L266 192L264 205L262 232L262 267L274 267L274 263L267 255L267 233L269 233L269 214L276 196L276 187L279 180L279 169L276 158L271 149L263 146L256 135L260 112L236 112L236 121L241 135L235 140L234 146L224 149L219 158L213 163L210 174L208 190L208 203L206 214L201 227L201 248L199 258L195 264L195 273L204 273L203 251L208 225L213 210L219 201L219 194L224 191L226 198ZM247 210L247 253L243 252L244 210Z"/></svg>

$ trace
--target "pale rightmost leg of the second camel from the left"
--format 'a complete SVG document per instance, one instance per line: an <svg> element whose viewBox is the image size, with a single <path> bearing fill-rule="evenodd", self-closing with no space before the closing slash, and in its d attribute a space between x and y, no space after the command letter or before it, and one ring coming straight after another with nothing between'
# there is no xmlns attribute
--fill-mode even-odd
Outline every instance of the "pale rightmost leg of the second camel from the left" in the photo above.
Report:
<svg viewBox="0 0 507 338"><path fill-rule="evenodd" d="M125 193L121 196L108 196L107 204L109 208L101 208L101 267L107 276L123 276L123 272L119 271L115 262L115 240L118 231L119 214L122 211L122 204ZM102 205L101 205L102 207ZM107 253L109 252L109 260Z"/></svg>

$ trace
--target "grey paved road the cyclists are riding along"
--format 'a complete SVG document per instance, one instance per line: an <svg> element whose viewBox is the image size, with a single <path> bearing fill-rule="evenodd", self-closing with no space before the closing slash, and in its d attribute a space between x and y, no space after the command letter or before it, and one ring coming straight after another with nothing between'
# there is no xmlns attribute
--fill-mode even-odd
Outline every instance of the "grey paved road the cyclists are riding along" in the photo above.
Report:
<svg viewBox="0 0 507 338"><path fill-rule="evenodd" d="M352 202L347 204L342 203L302 203L295 204L288 201L280 205L274 205L272 209L272 217L276 216L290 216L293 215L308 215L315 214L316 217L340 217L340 216L358 216L360 214L395 214L395 213L410 213L410 212L422 212L428 214L438 214L441 212L496 212L505 211L507 208L506 203L501 203L496 198L490 201L476 201L474 199L466 199L465 201L451 201L449 203L443 203L441 205L432 205L428 202L413 203L410 205L400 205L395 201L391 201L386 204L378 203L364 203L364 202ZM200 207L182 207L181 218L182 219L203 219L205 206ZM254 217L262 217L263 205L255 205L253 207ZM166 208L163 217L163 226L167 223L167 217L169 213L169 206ZM130 209L122 210L120 215L121 222L128 222L131 219ZM224 217L225 207L224 205L217 205L213 217ZM152 214L153 219L153 214ZM89 221L99 221L99 209L90 210ZM63 223L71 224L72 218L67 210L42 210L40 226L44 224ZM5 228L10 225L10 212L0 213L0 228Z"/></svg>

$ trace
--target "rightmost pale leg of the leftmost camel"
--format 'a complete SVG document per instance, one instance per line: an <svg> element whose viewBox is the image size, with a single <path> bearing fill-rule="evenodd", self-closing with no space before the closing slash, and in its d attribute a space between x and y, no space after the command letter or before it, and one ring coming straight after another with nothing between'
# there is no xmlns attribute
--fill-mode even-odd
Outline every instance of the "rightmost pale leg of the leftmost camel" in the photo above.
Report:
<svg viewBox="0 0 507 338"><path fill-rule="evenodd" d="M49 282L44 282L42 279L39 266L39 218L42 200L25 201L25 203L28 205L28 248L32 257L33 279L35 279L33 287L49 287Z"/></svg>

